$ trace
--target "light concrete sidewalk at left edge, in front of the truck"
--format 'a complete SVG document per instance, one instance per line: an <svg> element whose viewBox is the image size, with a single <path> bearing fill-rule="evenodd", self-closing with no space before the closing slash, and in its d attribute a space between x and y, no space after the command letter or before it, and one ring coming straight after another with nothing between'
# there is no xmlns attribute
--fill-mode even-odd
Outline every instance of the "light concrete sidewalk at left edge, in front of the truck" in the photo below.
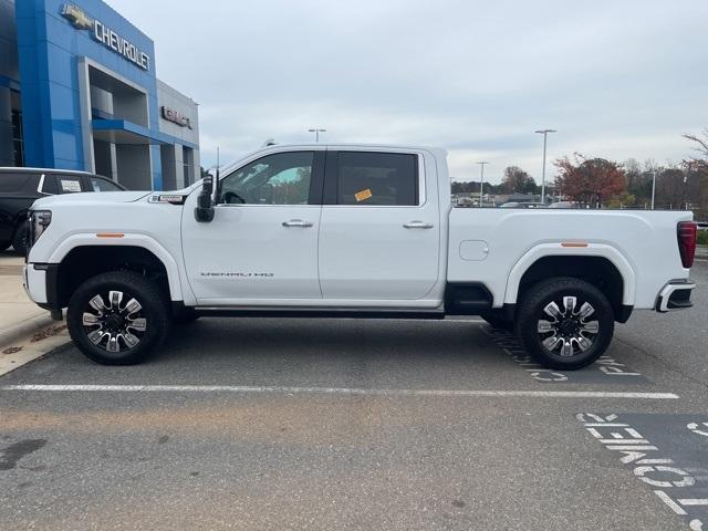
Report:
<svg viewBox="0 0 708 531"><path fill-rule="evenodd" d="M69 341L63 322L52 321L22 288L22 257L0 252L0 375Z"/></svg>

